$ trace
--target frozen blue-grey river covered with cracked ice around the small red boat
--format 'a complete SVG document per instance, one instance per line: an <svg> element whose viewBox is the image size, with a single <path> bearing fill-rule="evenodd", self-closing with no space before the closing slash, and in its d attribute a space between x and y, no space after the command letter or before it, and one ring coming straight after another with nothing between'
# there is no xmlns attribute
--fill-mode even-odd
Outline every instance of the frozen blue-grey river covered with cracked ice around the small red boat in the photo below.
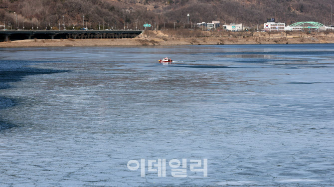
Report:
<svg viewBox="0 0 334 187"><path fill-rule="evenodd" d="M0 48L0 186L334 186L333 70L334 44Z"/></svg>

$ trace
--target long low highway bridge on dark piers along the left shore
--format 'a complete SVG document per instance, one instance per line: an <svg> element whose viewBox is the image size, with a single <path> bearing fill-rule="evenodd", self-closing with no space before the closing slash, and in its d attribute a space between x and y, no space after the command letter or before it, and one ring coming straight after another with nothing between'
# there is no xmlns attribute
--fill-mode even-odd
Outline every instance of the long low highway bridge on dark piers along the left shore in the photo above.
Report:
<svg viewBox="0 0 334 187"><path fill-rule="evenodd" d="M34 38L134 38L142 32L142 30L0 30L0 41Z"/></svg>

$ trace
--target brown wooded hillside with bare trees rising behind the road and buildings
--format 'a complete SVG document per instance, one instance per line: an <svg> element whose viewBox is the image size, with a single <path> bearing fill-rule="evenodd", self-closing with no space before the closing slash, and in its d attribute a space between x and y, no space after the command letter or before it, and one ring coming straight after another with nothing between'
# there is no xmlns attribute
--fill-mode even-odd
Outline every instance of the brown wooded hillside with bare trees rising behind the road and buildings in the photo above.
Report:
<svg viewBox="0 0 334 187"><path fill-rule="evenodd" d="M0 0L0 21L14 28L23 23L45 28L51 24L59 27L63 19L67 27L82 25L97 28L104 24L122 28L134 28L137 24L156 22L160 26L178 26L187 22L260 24L269 17L276 21L331 21L331 3L334 0ZM334 7L333 7L334 8ZM16 16L15 17L15 13ZM63 18L64 16L64 18ZM84 16L84 17L83 17ZM334 18L334 16L333 16ZM9 22L8 22L9 21ZM165 23L167 22L167 23ZM85 25L86 25L85 23ZM71 25L71 26L70 26ZM36 28L36 27L35 27Z"/></svg>

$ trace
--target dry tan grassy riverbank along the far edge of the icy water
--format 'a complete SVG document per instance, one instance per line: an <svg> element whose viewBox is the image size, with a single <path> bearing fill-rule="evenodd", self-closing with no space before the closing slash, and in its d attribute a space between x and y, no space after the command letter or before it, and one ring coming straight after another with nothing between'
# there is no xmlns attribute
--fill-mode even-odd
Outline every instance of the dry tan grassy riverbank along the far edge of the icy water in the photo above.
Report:
<svg viewBox="0 0 334 187"><path fill-rule="evenodd" d="M205 36L182 36L161 31L146 32L136 38L103 39L30 39L0 42L0 47L49 47L49 46L140 46L140 45L222 45L222 44L300 44L334 43L333 34L285 33L285 32L208 32Z"/></svg>

